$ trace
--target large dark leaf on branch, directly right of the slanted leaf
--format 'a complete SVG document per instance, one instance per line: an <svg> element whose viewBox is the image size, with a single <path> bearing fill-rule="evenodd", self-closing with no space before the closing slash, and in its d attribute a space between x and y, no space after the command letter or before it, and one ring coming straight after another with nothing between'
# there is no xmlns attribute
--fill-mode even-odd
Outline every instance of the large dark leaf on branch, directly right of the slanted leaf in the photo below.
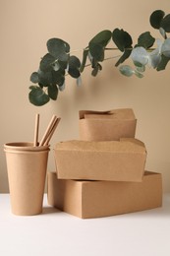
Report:
<svg viewBox="0 0 170 256"><path fill-rule="evenodd" d="M112 39L120 51L132 47L132 37L128 32L124 32L124 30L115 29L112 33Z"/></svg>

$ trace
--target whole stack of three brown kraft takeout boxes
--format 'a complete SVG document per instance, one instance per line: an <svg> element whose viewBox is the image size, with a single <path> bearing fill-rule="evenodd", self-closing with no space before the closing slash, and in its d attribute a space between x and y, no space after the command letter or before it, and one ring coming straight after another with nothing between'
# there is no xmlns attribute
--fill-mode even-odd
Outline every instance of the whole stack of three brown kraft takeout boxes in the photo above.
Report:
<svg viewBox="0 0 170 256"><path fill-rule="evenodd" d="M162 205L161 174L146 171L133 109L80 111L80 140L57 143L48 173L48 203L80 218Z"/></svg>

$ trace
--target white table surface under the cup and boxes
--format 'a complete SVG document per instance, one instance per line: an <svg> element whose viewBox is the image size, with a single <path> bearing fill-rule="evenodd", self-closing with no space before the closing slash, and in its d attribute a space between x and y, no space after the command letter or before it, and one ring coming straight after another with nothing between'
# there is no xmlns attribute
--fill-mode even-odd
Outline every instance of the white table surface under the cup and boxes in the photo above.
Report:
<svg viewBox="0 0 170 256"><path fill-rule="evenodd" d="M170 194L162 208L90 220L51 208L46 197L41 215L20 217L0 194L1 256L170 255Z"/></svg>

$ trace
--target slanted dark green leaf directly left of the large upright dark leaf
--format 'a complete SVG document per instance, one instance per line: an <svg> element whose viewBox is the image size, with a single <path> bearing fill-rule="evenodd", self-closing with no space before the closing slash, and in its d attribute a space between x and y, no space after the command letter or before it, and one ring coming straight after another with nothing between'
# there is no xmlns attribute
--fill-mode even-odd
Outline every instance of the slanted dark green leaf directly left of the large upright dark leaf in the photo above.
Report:
<svg viewBox="0 0 170 256"><path fill-rule="evenodd" d="M98 32L90 41L89 44L100 44L105 47L111 38L112 33L110 31ZM88 44L88 45L89 45Z"/></svg>

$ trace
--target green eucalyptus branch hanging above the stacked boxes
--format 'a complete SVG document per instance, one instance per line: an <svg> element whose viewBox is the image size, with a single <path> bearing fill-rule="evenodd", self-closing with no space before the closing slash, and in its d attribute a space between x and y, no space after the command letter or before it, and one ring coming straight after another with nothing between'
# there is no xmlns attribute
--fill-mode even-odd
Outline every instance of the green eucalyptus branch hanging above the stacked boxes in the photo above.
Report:
<svg viewBox="0 0 170 256"><path fill-rule="evenodd" d="M65 77L76 79L81 85L81 75L86 67L91 67L91 75L97 76L102 70L102 62L116 59L115 67L121 74L142 78L147 67L156 71L164 70L170 61L170 14L161 10L154 11L149 18L151 27L158 30L163 39L155 39L150 32L142 32L138 41L133 43L130 33L114 29L98 32L83 49L71 50L70 44L60 38L47 41L47 53L39 62L38 71L33 72L29 87L29 101L34 105L43 105L50 99L56 100L60 91L65 89ZM156 47L153 47L154 43ZM110 46L113 43L113 46ZM109 46L108 46L109 44ZM105 57L106 51L119 51L120 54ZM82 59L75 54L82 52ZM134 67L124 64L132 60ZM113 66L113 65L112 65Z"/></svg>

